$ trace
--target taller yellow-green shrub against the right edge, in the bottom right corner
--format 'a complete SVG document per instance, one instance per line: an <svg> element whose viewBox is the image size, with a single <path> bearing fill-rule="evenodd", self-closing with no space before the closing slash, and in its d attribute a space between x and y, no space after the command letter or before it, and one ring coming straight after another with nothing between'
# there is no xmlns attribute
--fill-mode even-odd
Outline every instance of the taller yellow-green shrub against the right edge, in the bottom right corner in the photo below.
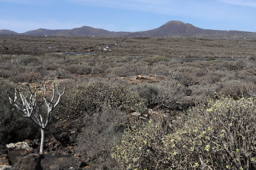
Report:
<svg viewBox="0 0 256 170"><path fill-rule="evenodd" d="M175 132L163 141L172 166L179 169L252 168L256 156L255 111L255 101L244 98L238 101L221 98L188 111L188 115L172 125ZM183 127L177 128L178 124Z"/></svg>

